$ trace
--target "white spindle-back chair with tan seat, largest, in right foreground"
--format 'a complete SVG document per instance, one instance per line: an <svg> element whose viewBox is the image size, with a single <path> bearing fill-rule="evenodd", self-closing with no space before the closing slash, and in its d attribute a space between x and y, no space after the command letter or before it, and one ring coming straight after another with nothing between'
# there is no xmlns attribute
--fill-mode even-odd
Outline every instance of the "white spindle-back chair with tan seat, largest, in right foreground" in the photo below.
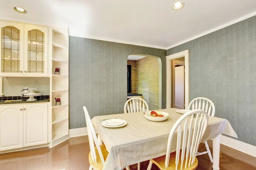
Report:
<svg viewBox="0 0 256 170"><path fill-rule="evenodd" d="M191 116L191 118L189 116ZM147 170L151 170L153 163L156 164L160 170L195 170L198 166L198 159L196 158L197 150L207 129L208 120L209 116L207 112L199 109L183 114L172 127L167 143L166 155L151 159ZM183 128L182 124L184 125ZM170 153L172 139L175 136L176 130L176 152ZM182 130L183 140L181 145Z"/></svg>

